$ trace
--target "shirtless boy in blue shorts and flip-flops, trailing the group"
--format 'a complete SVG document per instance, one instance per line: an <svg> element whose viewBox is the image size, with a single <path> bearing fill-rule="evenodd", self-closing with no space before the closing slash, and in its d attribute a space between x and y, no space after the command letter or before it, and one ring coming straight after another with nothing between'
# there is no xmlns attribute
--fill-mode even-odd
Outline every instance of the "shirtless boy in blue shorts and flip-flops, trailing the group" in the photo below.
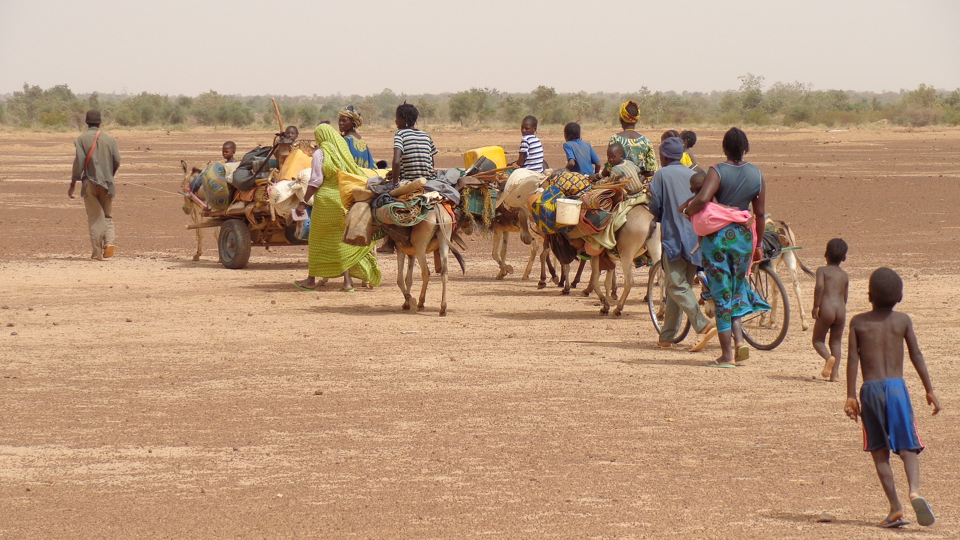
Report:
<svg viewBox="0 0 960 540"><path fill-rule="evenodd" d="M855 422L863 419L863 450L874 457L876 475L890 501L890 513L880 522L883 528L907 525L903 506L897 498L894 472L890 468L890 451L900 455L906 479L910 484L910 505L917 513L917 523L933 525L933 512L920 495L920 459L924 443L917 433L913 406L903 381L903 342L906 341L910 362L924 383L927 405L933 414L940 412L940 402L933 394L933 383L926 371L924 355L913 332L909 315L894 311L903 300L903 281L890 268L877 268L870 276L870 303L874 308L850 320L850 346L847 358L847 404L844 412ZM856 401L856 368L860 364L863 386L860 402Z"/></svg>

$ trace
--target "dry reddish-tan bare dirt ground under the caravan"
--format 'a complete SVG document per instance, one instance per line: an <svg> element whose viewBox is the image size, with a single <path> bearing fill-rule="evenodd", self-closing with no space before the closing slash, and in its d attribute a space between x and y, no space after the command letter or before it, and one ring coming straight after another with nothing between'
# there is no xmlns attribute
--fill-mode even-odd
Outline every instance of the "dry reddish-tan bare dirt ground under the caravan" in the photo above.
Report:
<svg viewBox="0 0 960 540"><path fill-rule="evenodd" d="M876 266L904 277L945 407L929 415L908 369L934 527L874 527L873 465L796 307L780 348L713 370L715 342L654 349L642 277L623 317L601 317L576 292L492 280L483 237L445 318L436 285L425 311L399 310L393 258L354 294L298 292L301 247L227 270L207 233L193 262L180 198L147 187L176 191L179 160L225 139L269 142L255 132L114 132L117 256L88 262L83 202L65 197L75 134L16 132L0 133L0 536L955 538L960 131L748 133L805 262L850 243L850 313ZM440 166L519 139L433 135ZM559 131L541 135L559 163ZM602 153L606 136L585 139ZM721 136L700 134L702 162ZM390 137L368 134L374 156ZM525 253L515 238L515 267Z"/></svg>

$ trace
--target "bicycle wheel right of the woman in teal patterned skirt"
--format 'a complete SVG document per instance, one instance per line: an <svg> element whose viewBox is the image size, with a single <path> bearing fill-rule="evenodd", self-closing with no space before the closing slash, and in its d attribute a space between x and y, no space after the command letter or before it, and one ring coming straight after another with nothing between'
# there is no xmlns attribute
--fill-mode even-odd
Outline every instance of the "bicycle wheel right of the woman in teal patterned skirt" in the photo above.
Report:
<svg viewBox="0 0 960 540"><path fill-rule="evenodd" d="M750 277L750 286L770 305L769 311L757 311L741 319L743 337L754 348L770 351L783 342L790 327L790 303L786 287L769 264L761 264Z"/></svg>

